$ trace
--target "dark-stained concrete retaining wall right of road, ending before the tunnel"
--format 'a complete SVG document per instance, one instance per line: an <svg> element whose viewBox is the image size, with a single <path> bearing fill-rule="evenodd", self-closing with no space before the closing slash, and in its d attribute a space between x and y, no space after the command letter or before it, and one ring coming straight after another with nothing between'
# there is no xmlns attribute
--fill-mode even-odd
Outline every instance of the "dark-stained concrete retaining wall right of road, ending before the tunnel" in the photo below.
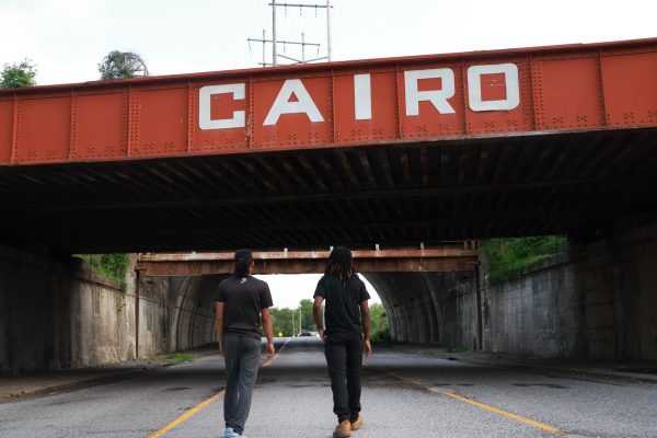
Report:
<svg viewBox="0 0 657 438"><path fill-rule="evenodd" d="M657 224L619 232L483 287L484 349L657 361Z"/></svg>

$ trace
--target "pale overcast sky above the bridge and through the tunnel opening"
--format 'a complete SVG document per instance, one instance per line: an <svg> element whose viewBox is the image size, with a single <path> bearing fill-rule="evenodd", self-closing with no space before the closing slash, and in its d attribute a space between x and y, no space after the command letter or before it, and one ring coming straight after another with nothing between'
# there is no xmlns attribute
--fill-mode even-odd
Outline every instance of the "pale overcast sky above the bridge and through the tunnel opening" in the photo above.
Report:
<svg viewBox="0 0 657 438"><path fill-rule="evenodd" d="M151 76L258 68L272 0L0 0L0 66L28 58L37 84L99 79L111 50ZM325 0L278 0L323 3ZM657 36L657 0L332 0L333 60L596 43ZM278 39L321 44L324 10L277 9ZM279 54L301 51L279 45ZM270 47L266 61L270 62ZM283 59L281 59L283 60ZM311 298L318 276L269 276L277 307ZM370 293L374 290L369 286Z"/></svg>

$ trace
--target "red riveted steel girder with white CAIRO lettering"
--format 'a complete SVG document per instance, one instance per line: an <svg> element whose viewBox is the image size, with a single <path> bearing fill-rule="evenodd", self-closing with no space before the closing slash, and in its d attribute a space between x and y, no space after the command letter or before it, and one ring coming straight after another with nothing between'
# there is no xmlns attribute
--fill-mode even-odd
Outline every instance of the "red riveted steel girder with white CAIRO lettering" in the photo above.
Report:
<svg viewBox="0 0 657 438"><path fill-rule="evenodd" d="M0 90L0 166L657 126L657 38Z"/></svg>

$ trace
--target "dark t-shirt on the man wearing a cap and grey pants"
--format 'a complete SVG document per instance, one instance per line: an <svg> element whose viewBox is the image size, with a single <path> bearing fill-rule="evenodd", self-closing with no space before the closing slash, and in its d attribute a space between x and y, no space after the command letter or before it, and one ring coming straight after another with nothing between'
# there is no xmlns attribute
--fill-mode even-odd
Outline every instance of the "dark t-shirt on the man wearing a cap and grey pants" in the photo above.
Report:
<svg viewBox="0 0 657 438"><path fill-rule="evenodd" d="M223 333L260 339L261 311L274 306L269 286L255 277L232 276L219 284L215 301L224 302Z"/></svg>

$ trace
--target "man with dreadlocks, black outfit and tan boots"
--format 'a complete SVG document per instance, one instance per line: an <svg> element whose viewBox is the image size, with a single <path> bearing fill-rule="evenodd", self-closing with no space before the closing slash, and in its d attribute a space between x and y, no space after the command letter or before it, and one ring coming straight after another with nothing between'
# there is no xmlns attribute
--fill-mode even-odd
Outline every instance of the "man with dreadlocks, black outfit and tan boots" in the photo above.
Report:
<svg viewBox="0 0 657 438"><path fill-rule="evenodd" d="M313 316L324 353L333 391L333 412L337 427L333 438L351 436L362 426L360 415L360 372L362 353L372 351L365 283L354 269L351 252L345 246L331 251L324 275L314 292ZM326 300L326 330L322 321L322 303Z"/></svg>

